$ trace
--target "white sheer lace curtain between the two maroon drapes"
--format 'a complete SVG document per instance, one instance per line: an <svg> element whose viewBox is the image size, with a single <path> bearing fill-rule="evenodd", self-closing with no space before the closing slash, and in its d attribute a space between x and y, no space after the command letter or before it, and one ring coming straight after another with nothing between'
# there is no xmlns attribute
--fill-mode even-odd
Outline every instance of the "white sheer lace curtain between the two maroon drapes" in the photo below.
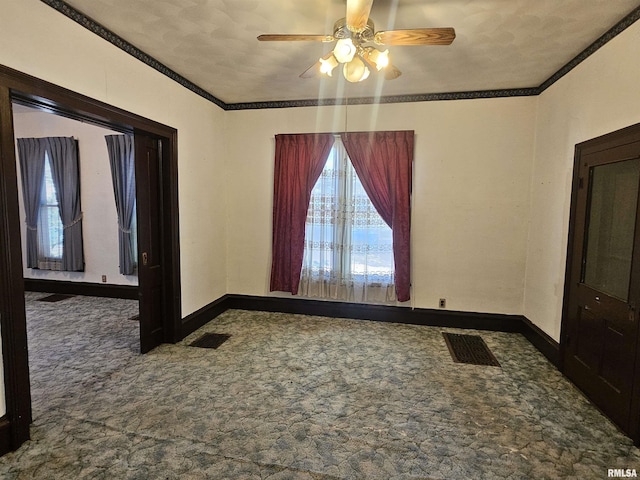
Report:
<svg viewBox="0 0 640 480"><path fill-rule="evenodd" d="M396 300L391 228L371 203L339 136L311 192L304 247L300 295Z"/></svg>

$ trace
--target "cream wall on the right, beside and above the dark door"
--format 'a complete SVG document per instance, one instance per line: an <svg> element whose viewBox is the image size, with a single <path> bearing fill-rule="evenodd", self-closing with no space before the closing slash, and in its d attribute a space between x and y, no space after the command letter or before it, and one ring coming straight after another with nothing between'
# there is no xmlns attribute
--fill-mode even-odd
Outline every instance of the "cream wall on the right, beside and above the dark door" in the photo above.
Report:
<svg viewBox="0 0 640 480"><path fill-rule="evenodd" d="M538 97L525 315L560 339L577 143L640 122L640 23Z"/></svg>

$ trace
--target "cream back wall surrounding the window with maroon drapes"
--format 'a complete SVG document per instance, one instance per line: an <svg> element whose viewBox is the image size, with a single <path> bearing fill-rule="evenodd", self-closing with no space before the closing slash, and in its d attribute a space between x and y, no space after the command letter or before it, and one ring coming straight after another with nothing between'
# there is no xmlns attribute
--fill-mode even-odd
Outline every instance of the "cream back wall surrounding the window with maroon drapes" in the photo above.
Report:
<svg viewBox="0 0 640 480"><path fill-rule="evenodd" d="M414 306L522 313L535 102L348 107L348 130L415 131ZM275 134L344 126L344 107L227 112L229 292L269 294Z"/></svg>

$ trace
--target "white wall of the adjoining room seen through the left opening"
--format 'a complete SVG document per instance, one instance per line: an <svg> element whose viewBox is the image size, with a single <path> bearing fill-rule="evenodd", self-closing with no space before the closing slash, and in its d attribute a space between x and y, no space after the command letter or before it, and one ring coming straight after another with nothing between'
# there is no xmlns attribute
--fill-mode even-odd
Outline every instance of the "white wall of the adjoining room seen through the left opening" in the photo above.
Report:
<svg viewBox="0 0 640 480"><path fill-rule="evenodd" d="M26 223L22 183L18 182L18 200L22 228L22 263L25 278L100 283L102 275L107 283L137 285L135 275L121 275L118 253L118 215L113 194L109 155L105 135L118 132L88 123L18 108L14 110L13 128L16 138L74 137L78 140L80 160L80 205L82 207L82 237L84 243L84 272L52 272L26 268ZM16 159L18 153L16 150ZM20 175L20 162L17 163Z"/></svg>

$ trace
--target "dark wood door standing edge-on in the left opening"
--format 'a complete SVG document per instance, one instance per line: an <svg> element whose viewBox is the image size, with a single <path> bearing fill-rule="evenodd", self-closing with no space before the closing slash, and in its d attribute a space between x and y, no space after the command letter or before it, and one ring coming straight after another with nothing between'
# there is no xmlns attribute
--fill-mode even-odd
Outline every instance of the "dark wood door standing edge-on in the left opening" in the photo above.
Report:
<svg viewBox="0 0 640 480"><path fill-rule="evenodd" d="M165 341L162 251L162 143L136 133L140 351Z"/></svg>

